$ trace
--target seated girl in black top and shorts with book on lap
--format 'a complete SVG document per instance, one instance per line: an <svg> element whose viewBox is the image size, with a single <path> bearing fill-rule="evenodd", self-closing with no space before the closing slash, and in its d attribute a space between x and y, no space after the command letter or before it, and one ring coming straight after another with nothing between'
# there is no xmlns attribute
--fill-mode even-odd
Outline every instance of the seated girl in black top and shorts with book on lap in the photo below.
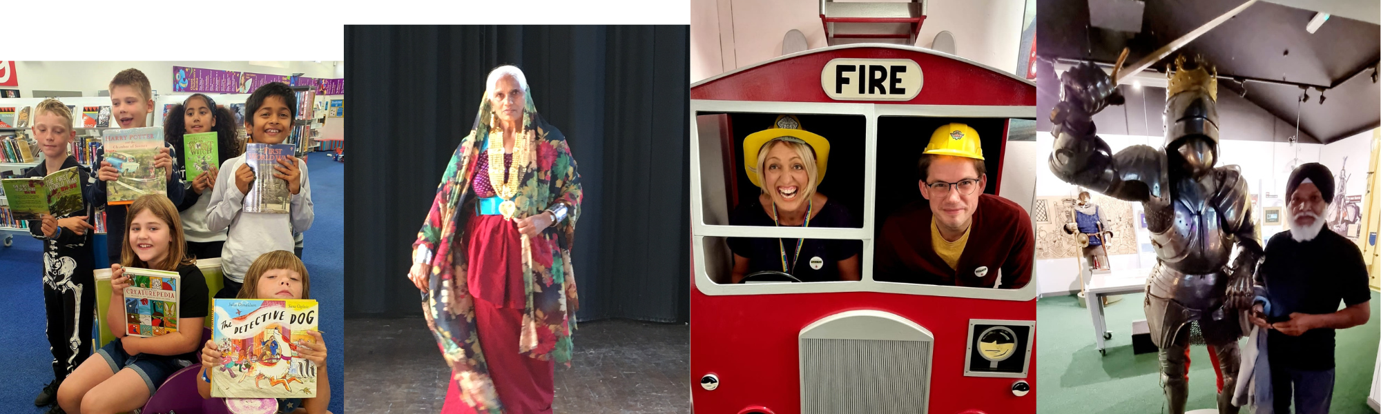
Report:
<svg viewBox="0 0 1381 414"><path fill-rule="evenodd" d="M142 407L168 375L196 363L209 288L196 262L184 254L182 221L163 195L144 195L128 206L120 264L110 265L110 308L106 323L115 339L87 359L58 388L66 413L124 413ZM157 337L126 335L124 268L177 272L181 286L178 326Z"/></svg>

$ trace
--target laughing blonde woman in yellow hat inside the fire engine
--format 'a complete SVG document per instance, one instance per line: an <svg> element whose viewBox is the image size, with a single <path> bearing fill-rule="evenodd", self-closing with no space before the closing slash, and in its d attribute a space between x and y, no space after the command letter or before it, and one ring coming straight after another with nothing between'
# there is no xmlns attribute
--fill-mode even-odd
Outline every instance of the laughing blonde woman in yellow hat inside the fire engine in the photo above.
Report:
<svg viewBox="0 0 1381 414"><path fill-rule="evenodd" d="M824 137L797 128L754 132L744 139L744 164L751 159L757 163L747 167L749 177L762 193L757 200L739 204L729 224L855 226L842 206L815 192L829 159ZM858 240L729 237L728 243L733 251L733 283L764 270L789 273L801 282L859 280L862 276L862 243Z"/></svg>

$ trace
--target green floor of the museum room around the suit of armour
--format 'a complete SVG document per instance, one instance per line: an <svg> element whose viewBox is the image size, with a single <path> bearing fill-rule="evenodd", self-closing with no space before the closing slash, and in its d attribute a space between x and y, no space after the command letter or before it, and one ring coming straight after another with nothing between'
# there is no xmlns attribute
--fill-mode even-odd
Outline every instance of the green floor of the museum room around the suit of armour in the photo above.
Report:
<svg viewBox="0 0 1381 414"><path fill-rule="evenodd" d="M1108 356L1098 353L1092 319L1073 295L1036 302L1039 413L1164 413L1156 353L1131 352L1131 322L1146 319L1143 297L1123 295L1121 301L1105 308L1108 327L1113 331L1106 345ZM1367 406L1367 392L1381 341L1381 312L1377 312L1381 301L1377 299L1373 291L1367 324L1338 331L1333 414L1375 414ZM1193 346L1189 357L1186 408L1213 408L1217 388L1208 351Z"/></svg>

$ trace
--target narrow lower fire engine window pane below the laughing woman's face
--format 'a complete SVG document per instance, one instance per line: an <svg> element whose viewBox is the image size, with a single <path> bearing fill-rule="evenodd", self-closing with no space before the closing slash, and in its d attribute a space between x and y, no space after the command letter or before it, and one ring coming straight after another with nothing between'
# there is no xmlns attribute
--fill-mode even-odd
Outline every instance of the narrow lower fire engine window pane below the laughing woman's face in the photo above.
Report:
<svg viewBox="0 0 1381 414"><path fill-rule="evenodd" d="M862 240L704 237L706 272L718 284L859 280L862 250Z"/></svg>

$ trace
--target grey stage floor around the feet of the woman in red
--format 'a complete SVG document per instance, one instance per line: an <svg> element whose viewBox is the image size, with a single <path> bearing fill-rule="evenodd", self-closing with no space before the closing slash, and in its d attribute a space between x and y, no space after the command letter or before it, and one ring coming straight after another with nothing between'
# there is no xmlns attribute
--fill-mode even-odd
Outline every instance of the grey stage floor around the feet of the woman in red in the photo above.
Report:
<svg viewBox="0 0 1381 414"><path fill-rule="evenodd" d="M347 319L347 413L438 413L450 368L427 322ZM579 324L570 367L557 366L555 413L689 413L685 324Z"/></svg>

